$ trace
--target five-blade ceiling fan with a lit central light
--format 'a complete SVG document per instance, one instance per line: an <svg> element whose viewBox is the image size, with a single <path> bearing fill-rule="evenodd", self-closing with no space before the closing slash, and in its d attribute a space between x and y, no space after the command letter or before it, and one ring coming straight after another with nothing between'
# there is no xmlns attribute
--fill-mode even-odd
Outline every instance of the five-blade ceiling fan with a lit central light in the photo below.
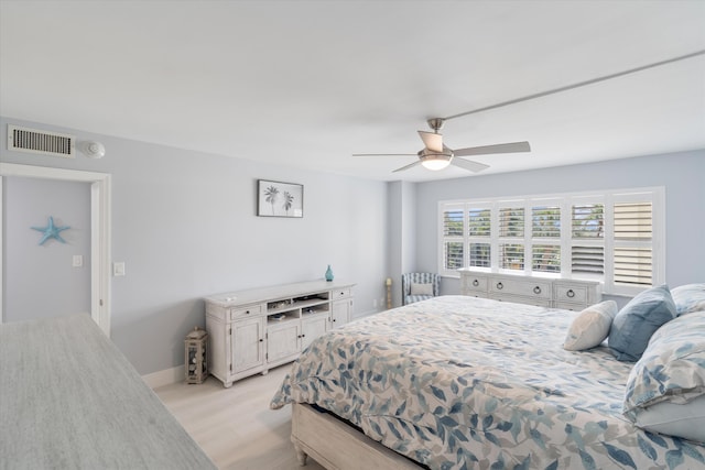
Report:
<svg viewBox="0 0 705 470"><path fill-rule="evenodd" d="M443 170L448 165L459 166L460 168L468 170L470 172L481 172L488 168L480 162L474 162L471 160L460 159L460 156L470 155L487 155L490 153L517 153L517 152L530 152L531 146L529 142L510 142L499 143L495 145L484 146L470 146L467 149L452 150L443 143L443 135L438 131L443 128L445 119L433 118L429 119L429 127L433 132L419 131L419 135L423 141L424 149L417 153L354 153L352 156L417 156L419 160L401 168L394 170L394 172L403 172L405 170L413 168L416 165L423 165L429 170Z"/></svg>

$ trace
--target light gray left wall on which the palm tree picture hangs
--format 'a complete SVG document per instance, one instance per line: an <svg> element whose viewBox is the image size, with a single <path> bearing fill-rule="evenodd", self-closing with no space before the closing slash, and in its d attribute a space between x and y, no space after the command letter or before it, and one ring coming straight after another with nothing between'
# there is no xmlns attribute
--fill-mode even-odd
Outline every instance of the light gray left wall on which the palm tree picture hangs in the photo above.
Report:
<svg viewBox="0 0 705 470"><path fill-rule="evenodd" d="M323 278L328 264L336 280L357 283L356 314L384 295L384 183L7 118L3 141L8 123L105 144L101 160L6 149L0 160L112 175L111 258L127 275L112 278L111 338L142 374L183 363L185 335L205 326L206 295ZM304 217L257 217L258 178L303 184Z"/></svg>

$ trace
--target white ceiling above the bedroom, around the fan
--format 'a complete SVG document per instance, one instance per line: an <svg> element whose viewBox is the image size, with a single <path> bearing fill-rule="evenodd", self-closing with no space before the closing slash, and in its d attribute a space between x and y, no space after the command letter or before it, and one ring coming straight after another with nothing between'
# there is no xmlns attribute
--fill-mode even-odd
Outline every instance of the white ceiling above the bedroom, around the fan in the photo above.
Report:
<svg viewBox="0 0 705 470"><path fill-rule="evenodd" d="M380 181L425 120L705 51L705 1L0 0L0 114ZM705 55L446 122L481 174L705 149ZM106 159L110 157L107 149Z"/></svg>

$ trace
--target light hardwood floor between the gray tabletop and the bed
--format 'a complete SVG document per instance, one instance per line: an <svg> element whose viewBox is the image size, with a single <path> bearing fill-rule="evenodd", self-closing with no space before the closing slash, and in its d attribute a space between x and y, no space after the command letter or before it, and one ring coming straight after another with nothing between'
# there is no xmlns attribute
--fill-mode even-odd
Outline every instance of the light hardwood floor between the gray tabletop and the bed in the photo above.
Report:
<svg viewBox="0 0 705 470"><path fill-rule="evenodd" d="M182 382L154 392L219 469L322 470L311 458L306 467L296 461L290 440L291 406L269 408L290 369L285 364L230 389L210 376L203 384Z"/></svg>

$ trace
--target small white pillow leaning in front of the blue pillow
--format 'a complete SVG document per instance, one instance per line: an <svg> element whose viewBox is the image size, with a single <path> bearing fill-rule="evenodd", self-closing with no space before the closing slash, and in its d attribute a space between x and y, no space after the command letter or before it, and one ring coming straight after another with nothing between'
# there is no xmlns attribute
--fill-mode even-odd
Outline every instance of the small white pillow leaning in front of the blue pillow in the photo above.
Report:
<svg viewBox="0 0 705 470"><path fill-rule="evenodd" d="M599 346L609 335L615 315L617 315L615 300L590 305L571 324L563 348L568 351L583 351Z"/></svg>

